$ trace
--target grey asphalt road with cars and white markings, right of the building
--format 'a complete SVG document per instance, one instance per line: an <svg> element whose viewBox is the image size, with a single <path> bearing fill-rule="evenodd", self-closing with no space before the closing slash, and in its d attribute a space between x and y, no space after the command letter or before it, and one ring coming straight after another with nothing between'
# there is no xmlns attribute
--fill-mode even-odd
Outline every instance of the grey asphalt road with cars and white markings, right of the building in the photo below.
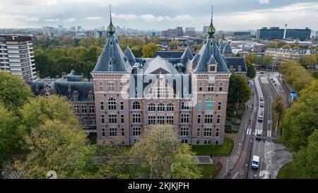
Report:
<svg viewBox="0 0 318 193"><path fill-rule="evenodd" d="M281 166L292 159L291 153L285 151L285 148L281 144L274 143L271 139L276 136L276 129L272 128L272 103L278 95L283 95L284 100L288 100L288 93L283 89L279 81L277 80L277 73L274 74L257 74L254 78L257 93L260 97L264 97L264 107L258 107L257 117L259 115L264 116L264 122L256 122L254 134L258 130L262 131L263 140L257 141L252 136L252 151L249 156L249 165L247 170L247 178L249 179L269 179L276 178L278 170ZM273 85L270 80L273 78L276 81L277 86ZM281 156L284 155L284 156ZM253 170L251 167L252 156L259 156L260 163L259 169Z"/></svg>

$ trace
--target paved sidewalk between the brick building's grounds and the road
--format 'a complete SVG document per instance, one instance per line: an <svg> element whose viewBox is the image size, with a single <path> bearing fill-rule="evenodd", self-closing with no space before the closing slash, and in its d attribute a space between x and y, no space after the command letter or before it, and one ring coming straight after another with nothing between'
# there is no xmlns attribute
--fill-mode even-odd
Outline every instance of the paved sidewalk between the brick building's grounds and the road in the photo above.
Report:
<svg viewBox="0 0 318 193"><path fill-rule="evenodd" d="M227 160L228 160L228 170L230 170L230 169L235 167L237 160L239 160L239 158L240 158L240 155L242 153L242 148L243 148L242 138L245 137L245 136L243 136L243 133L245 132L246 125L248 126L248 124L249 124L249 117L252 113L252 103L253 103L253 96L245 104L248 106L248 108L247 109L245 108L245 112L244 112L242 119L241 119L241 122L240 122L240 129L237 132L237 134L225 133L225 137L232 139L234 141L234 147L232 149L232 152L230 153L230 156L220 157L220 164L222 164L222 168L220 169L220 171L218 172L216 177L214 177L215 179L223 179L225 177ZM214 158L214 163L218 163L218 157ZM239 174L239 175L241 175L241 174Z"/></svg>

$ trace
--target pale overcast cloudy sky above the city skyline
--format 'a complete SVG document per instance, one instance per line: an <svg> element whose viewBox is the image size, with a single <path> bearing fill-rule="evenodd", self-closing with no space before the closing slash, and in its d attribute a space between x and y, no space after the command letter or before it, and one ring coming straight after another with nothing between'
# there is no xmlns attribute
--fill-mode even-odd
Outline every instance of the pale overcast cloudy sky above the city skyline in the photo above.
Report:
<svg viewBox="0 0 318 193"><path fill-rule="evenodd" d="M0 28L42 28L109 24L140 30L195 27L211 18L217 30L278 26L318 30L318 0L0 0Z"/></svg>

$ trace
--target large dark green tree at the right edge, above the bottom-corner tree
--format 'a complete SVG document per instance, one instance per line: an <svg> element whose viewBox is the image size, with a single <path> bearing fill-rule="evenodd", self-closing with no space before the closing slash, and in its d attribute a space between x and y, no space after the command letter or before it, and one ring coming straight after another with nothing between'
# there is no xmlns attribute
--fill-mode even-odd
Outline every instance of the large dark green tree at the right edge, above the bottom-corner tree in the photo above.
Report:
<svg viewBox="0 0 318 193"><path fill-rule="evenodd" d="M283 144L292 151L307 146L307 138L318 128L318 81L300 91L298 102L285 113L281 122Z"/></svg>

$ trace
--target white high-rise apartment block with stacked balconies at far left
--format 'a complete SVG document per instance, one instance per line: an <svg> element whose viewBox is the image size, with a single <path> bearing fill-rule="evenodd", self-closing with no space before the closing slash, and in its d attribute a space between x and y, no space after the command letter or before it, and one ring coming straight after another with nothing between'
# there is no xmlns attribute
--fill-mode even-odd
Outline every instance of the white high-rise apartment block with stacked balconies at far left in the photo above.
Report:
<svg viewBox="0 0 318 193"><path fill-rule="evenodd" d="M0 35L0 71L21 76L25 82L37 79L32 37Z"/></svg>

